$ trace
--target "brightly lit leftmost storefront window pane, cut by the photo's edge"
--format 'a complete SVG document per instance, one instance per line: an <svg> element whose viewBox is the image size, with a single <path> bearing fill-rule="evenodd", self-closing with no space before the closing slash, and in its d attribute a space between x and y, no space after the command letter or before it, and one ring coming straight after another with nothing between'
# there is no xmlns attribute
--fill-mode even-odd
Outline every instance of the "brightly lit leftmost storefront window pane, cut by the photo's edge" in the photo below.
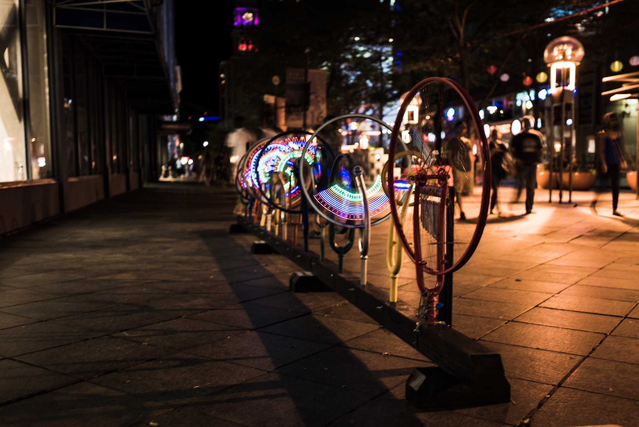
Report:
<svg viewBox="0 0 639 427"><path fill-rule="evenodd" d="M0 0L0 181L27 179L18 1Z"/></svg>

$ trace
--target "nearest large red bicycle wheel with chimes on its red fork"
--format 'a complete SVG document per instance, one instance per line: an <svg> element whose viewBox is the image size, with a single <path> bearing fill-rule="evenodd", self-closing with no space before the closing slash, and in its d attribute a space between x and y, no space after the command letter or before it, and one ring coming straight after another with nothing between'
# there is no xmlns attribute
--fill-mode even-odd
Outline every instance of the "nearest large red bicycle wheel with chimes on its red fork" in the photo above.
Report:
<svg viewBox="0 0 639 427"><path fill-rule="evenodd" d="M409 116L407 111L412 114ZM467 138L461 135L465 133L465 127L468 128ZM477 248L486 225L490 151L475 102L461 85L442 77L419 82L404 98L390 137L389 159L396 157L400 134L404 141L410 141L411 151L417 151L419 158L411 153L400 153L399 157L403 159L395 160L392 167L389 164L390 210L404 251L416 265L417 285L422 298L427 300L423 308L428 312L429 323L435 323L435 306L442 290L443 275L465 265ZM476 185L478 180L481 180L481 186ZM415 189L410 202L412 208L406 212L402 225L396 192L406 183L412 183ZM458 197L461 218L450 235L446 217L453 194ZM468 217L461 212L466 212ZM426 287L424 272L437 276L434 288Z"/></svg>

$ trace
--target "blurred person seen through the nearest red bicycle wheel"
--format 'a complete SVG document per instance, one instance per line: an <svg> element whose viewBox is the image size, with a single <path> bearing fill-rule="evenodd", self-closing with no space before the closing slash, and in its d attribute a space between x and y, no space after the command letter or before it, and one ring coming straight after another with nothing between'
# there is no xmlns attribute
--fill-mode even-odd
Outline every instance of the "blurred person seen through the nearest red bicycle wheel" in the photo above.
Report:
<svg viewBox="0 0 639 427"><path fill-rule="evenodd" d="M466 123L458 121L455 125L455 136L446 144L446 158L452 166L452 178L455 185L459 219L466 219L462 206L462 197L473 193L475 174L473 173L473 146L470 139L464 136Z"/></svg>

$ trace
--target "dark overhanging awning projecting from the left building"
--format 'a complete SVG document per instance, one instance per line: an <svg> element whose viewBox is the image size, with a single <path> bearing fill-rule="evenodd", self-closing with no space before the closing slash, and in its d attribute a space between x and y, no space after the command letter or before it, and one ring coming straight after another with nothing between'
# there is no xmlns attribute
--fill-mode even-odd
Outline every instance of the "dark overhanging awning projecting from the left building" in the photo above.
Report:
<svg viewBox="0 0 639 427"><path fill-rule="evenodd" d="M127 90L141 111L178 108L171 17L162 0L56 0L54 23L72 33ZM165 5L166 6L166 5Z"/></svg>

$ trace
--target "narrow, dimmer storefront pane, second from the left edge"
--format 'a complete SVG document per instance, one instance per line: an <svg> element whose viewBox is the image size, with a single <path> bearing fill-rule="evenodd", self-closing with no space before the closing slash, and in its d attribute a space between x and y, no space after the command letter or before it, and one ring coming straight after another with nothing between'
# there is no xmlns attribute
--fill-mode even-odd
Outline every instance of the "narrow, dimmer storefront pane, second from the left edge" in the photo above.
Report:
<svg viewBox="0 0 639 427"><path fill-rule="evenodd" d="M27 64L29 75L29 147L31 178L51 178L49 132L49 75L47 31L43 0L26 1Z"/></svg>

